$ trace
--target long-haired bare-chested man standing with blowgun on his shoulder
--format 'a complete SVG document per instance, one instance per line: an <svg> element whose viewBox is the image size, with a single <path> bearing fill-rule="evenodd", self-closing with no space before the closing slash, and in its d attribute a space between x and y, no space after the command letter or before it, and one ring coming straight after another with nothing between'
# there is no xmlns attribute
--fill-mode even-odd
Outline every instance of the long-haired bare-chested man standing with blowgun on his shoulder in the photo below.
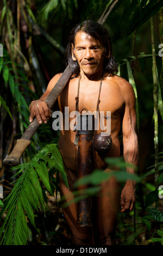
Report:
<svg viewBox="0 0 163 256"><path fill-rule="evenodd" d="M70 35L66 49L66 57L73 76L58 97L60 111L64 113L65 106L69 111L76 110L78 101L79 112L87 109L92 113L97 105L100 111L111 111L111 138L112 147L105 154L94 154L94 166L110 172L104 157L119 157L120 142L118 133L122 121L123 155L127 163L137 165L138 147L136 135L135 95L131 84L116 75L117 66L112 57L110 36L106 29L93 21L85 21L77 25ZM44 102L51 92L61 74L55 75L49 82L46 92L40 100L33 101L29 106L29 121L36 116L41 124L47 123L51 117L51 110ZM99 87L101 89L99 90ZM79 97L77 98L79 90ZM98 97L100 96L100 101ZM106 116L105 116L106 117ZM70 118L70 121L72 118ZM101 132L99 130L96 133ZM72 130L60 131L59 149L65 164L70 191L60 177L60 193L72 196L73 184L76 181L76 146L74 145L76 133ZM127 172L134 173L132 168ZM71 204L63 209L65 219L70 227L72 241L75 245L114 245L116 233L116 219L119 207L119 185L116 179L111 178L102 182L101 193L96 198L93 207L93 226L77 227L77 207ZM68 199L67 199L68 200ZM121 211L133 210L135 202L135 182L126 181L121 192Z"/></svg>

